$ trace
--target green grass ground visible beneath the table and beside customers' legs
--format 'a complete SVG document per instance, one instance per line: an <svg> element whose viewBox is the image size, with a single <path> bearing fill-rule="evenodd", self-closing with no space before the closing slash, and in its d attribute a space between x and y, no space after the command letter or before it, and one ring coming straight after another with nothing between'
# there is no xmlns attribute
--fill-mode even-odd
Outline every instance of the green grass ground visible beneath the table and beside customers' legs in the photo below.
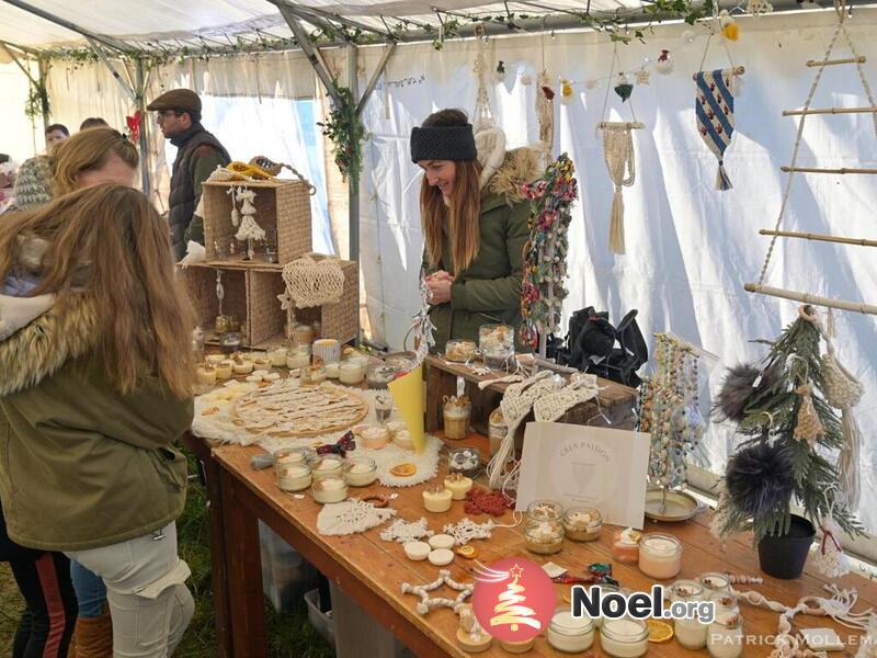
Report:
<svg viewBox="0 0 877 658"><path fill-rule="evenodd" d="M194 468L190 466L190 473ZM176 648L174 658L210 658L216 656L213 591L210 589L210 547L207 520L207 498L197 480L189 484L185 511L176 522L180 556L189 563L192 578L189 589L195 599L195 615ZM0 656L12 654L22 599L7 563L0 563ZM329 658L331 647L320 637L307 619L307 613L277 614L265 603L265 621L272 658Z"/></svg>

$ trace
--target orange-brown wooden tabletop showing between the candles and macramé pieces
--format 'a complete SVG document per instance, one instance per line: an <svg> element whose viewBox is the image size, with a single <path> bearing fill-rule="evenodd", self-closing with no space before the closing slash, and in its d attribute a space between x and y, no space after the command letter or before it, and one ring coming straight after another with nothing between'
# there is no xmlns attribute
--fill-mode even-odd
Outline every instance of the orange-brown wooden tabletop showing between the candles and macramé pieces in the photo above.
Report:
<svg viewBox="0 0 877 658"><path fill-rule="evenodd" d="M485 440L481 438L481 449ZM314 555L315 547L320 553L320 561L331 560L333 567L349 574L355 579L358 595L374 595L375 603L387 609L388 619L396 620L387 622L378 619L385 625L390 626L399 637L408 643L419 655L438 656L447 655L454 657L468 656L455 642L456 631L459 627L458 617L447 609L433 610L429 614L420 615L415 612L418 597L401 593L402 582L412 585L426 583L435 580L438 568L425 561L414 563L409 560L402 551L402 546L396 542L384 542L378 534L387 524L369 530L365 533L346 536L322 536L317 532L317 515L321 506L316 503L310 494L307 492L304 499L297 499L293 495L285 494L277 488L272 469L253 470L250 466L250 458L254 454L263 452L255 446L221 446L214 449L214 458L225 472L231 476L235 486L241 485L254 494L266 509L272 511L274 524L288 523L289 535L299 537L303 544L310 544L305 553ZM440 468L440 477L444 475L444 465ZM432 481L434 484L434 480ZM421 492L429 488L431 483L408 487L388 488L378 485L369 487L351 487L350 495L369 494L398 494L398 498L390 502L399 513L396 518L415 521L425 517L430 527L435 532L441 532L445 523L459 521L466 514L463 511L463 502L454 501L452 509L443 514L426 512L422 507ZM487 515L470 517L474 521L481 523L488 519ZM494 519L497 523L512 523L512 514L508 512L504 517ZM709 533L709 512L701 514L695 520L685 523L659 524L647 522L647 531L660 531L675 535L683 544L683 566L679 578L697 578L705 571L728 571L733 574L745 574L760 576L758 568L758 557L750 547L748 538L734 537L727 543L727 548L722 549L719 542ZM275 527L276 530L276 527ZM588 565L601 561L612 563L613 576L620 581L622 587L636 590L648 591L653 583L651 579L643 576L636 566L626 566L615 563L612 559L612 535L613 526L604 526L601 538L596 542L577 543L565 540L563 549L550 556L534 555L524 547L523 526L500 527L493 531L490 540L477 540L472 545L478 549L478 559L483 564L510 557L523 556L527 559L544 564L554 561L567 567L572 574L584 574ZM298 546L296 546L298 547ZM300 548L299 548L300 549ZM312 560L311 560L312 561ZM326 563L324 563L326 564ZM319 567L320 565L318 565ZM448 567L452 577L458 581L471 581L474 579L472 568L475 564L464 557L456 556L454 563ZM763 576L763 575L761 575ZM754 589L763 593L768 599L779 601L786 605L794 605L799 598L806 594L825 594L822 586L827 580L820 576L806 572L800 579L785 581L764 576L763 585L737 586L740 591ZM877 583L869 582L858 576L847 576L839 581L834 581L844 588L855 588L859 593L859 605L857 609L877 606ZM568 592L569 586L556 585L558 605L565 604L561 595ZM363 594L363 592L365 594ZM456 592L440 588L433 595L447 595L454 598ZM374 615L374 608L372 614ZM751 636L743 649L743 656L763 657L770 654L771 647L766 644L759 644L761 637L772 636L776 633L778 614L762 609L753 608L741 603L744 620L744 633ZM380 615L378 615L380 617ZM402 620L403 623L398 623ZM856 647L851 645L853 636L859 635L856 632L842 627L841 625L828 620L827 617L807 617L799 615L795 619L797 627L823 627L834 628L842 640L847 644L848 649L854 654ZM413 634L413 635L412 635ZM418 636L418 634L420 636ZM413 642L412 642L413 640ZM417 646L415 646L417 645ZM429 654L423 654L423 647L430 646ZM604 656L599 642L595 642L592 653L595 656ZM494 640L493 646L483 656L508 657L503 649ZM536 639L529 656L563 656L554 650L540 635ZM650 645L649 656L679 657L679 656L706 656L706 650L692 651L681 647L675 639L664 644ZM842 656L842 654L835 654Z"/></svg>

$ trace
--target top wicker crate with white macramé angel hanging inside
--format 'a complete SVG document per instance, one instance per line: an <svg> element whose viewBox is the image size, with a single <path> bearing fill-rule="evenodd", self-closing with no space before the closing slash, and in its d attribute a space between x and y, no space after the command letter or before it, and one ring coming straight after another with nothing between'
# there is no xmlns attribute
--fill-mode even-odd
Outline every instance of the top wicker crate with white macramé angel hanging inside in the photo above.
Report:
<svg viewBox="0 0 877 658"><path fill-rule="evenodd" d="M276 235L281 264L311 250L309 188L300 181L208 181L204 183L204 247L207 260L229 257L229 243L238 229L231 224L230 188L246 186L255 192L255 220L265 229L269 243ZM238 206L240 209L240 206ZM264 249L255 261L264 261Z"/></svg>

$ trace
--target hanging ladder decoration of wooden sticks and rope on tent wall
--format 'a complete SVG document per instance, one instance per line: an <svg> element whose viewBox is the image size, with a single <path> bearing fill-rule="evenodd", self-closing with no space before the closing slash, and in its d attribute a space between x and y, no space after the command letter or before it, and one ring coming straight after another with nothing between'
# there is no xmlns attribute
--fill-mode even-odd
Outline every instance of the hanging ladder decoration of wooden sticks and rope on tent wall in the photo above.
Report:
<svg viewBox="0 0 877 658"><path fill-rule="evenodd" d="M772 236L771 245L767 248L767 254L764 259L764 264L762 265L759 281L758 283L747 283L743 285L743 288L750 293L760 293L762 295L782 297L784 299L791 299L794 302L802 302L804 304L815 304L817 306L827 306L830 308L840 308L842 310L854 310L863 314L877 315L877 305L874 304L865 304L864 302L847 302L844 299L835 299L833 297L821 297L819 295L812 295L809 293L798 293L795 291L787 291L783 288L776 288L764 285L764 279L767 274L767 265L771 263L771 257L773 256L777 238L781 237L801 238L806 240L819 240L823 242L836 242L841 245L859 245L865 247L877 247L877 240L869 240L866 238L848 238L841 236L828 236L821 234L781 230L783 225L783 219L786 214L786 207L788 205L789 195L791 192L791 182L796 173L877 174L877 169L851 169L845 167L840 169L823 169L818 167L798 166L798 151L801 144L801 136L804 134L804 124L807 122L808 116L821 115L821 114L870 114L874 121L875 138L877 138L877 103L875 103L874 101L874 94L872 93L870 87L868 86L868 81L865 78L865 71L862 67L862 65L865 64L865 57L856 52L856 48L853 45L853 41L850 37L850 33L846 30L846 25L844 24L844 19L846 18L845 0L835 0L834 11L838 13L838 27L834 30L834 34L831 38L828 49L825 50L824 57L820 60L810 59L807 61L808 67L810 68L818 67L819 71L817 72L816 79L813 80L813 83L810 87L810 94L807 97L807 102L805 103L804 109L786 110L783 112L783 116L801 117L800 123L798 124L798 133L795 139L795 147L791 150L791 162L789 163L788 167L781 168L782 171L788 173L788 179L786 180L786 188L783 194L783 203L779 207L779 215L776 219L776 225L774 226L773 230L762 229L759 231L760 235ZM834 50L834 46L841 36L843 36L853 56L847 58L832 59L831 58L832 52ZM862 88L865 90L865 95L868 100L868 105L863 107L818 107L818 109L811 107L816 90L819 87L820 81L822 80L822 75L824 73L825 68L830 66L843 66L850 64L856 66L856 69L858 71L858 78L862 81Z"/></svg>

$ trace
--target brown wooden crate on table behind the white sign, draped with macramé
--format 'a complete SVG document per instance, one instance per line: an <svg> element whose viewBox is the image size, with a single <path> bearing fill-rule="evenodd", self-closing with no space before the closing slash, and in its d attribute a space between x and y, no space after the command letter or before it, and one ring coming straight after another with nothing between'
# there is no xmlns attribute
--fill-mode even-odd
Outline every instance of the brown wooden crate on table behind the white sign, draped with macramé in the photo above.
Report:
<svg viewBox="0 0 877 658"><path fill-rule="evenodd" d="M466 381L466 395L472 404L471 428L479 434L488 434L490 413L500 406L509 384L491 384L481 390L478 388L479 382L496 377L476 375L464 365L448 363L435 355L426 358L425 377L428 432L436 432L443 428L442 399L446 395L456 395L457 377L463 377ZM596 400L577 405L558 422L633 430L636 424L634 409L637 404L637 392L607 379L599 379L599 384L602 390ZM523 441L525 426L531 420L533 420L532 411L517 428L515 443Z"/></svg>

